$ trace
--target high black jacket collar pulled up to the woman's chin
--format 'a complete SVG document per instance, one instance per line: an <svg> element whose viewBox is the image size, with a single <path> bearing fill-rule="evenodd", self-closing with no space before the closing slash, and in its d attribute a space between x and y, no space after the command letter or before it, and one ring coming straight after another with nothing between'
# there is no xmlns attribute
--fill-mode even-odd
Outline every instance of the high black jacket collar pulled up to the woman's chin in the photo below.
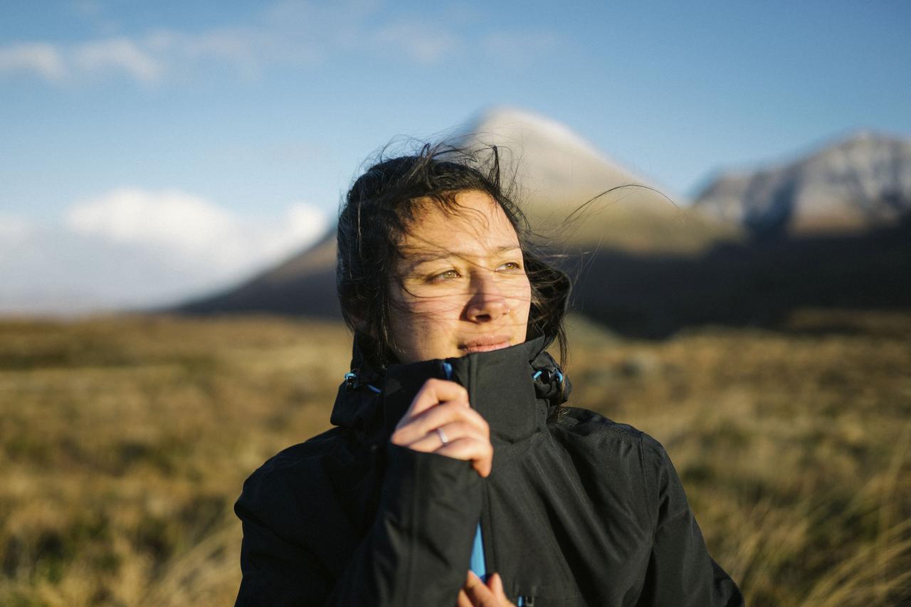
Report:
<svg viewBox="0 0 911 607"><path fill-rule="evenodd" d="M369 339L355 334L352 372L339 387L332 423L348 427L370 442L384 442L432 377L451 379L468 390L468 400L490 425L491 442L509 444L542 429L566 402L569 383L537 337L493 352L389 365L374 369L362 354ZM540 372L540 373L538 373Z"/></svg>

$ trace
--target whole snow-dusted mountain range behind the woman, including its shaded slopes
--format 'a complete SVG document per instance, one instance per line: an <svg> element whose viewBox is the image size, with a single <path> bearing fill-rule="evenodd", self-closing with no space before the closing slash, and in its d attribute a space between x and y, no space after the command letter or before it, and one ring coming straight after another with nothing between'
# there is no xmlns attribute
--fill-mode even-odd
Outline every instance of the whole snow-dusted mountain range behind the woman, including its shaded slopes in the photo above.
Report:
<svg viewBox="0 0 911 607"><path fill-rule="evenodd" d="M620 334L776 327L804 308L911 309L901 278L911 273L911 164L901 139L862 133L783 167L724 175L695 210L679 209L548 118L495 109L451 139L498 147L504 175L516 175L514 198L543 243L565 253L558 259L576 279L572 309ZM636 185L598 197L624 184ZM743 238L741 225L784 237ZM330 231L248 283L179 311L337 318L334 262Z"/></svg>

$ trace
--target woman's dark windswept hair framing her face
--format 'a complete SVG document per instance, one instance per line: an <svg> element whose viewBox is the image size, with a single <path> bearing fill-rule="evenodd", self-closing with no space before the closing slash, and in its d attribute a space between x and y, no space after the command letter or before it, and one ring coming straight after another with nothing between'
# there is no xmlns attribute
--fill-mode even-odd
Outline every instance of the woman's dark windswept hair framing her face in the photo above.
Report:
<svg viewBox="0 0 911 607"><path fill-rule="evenodd" d="M468 151L426 144L414 155L381 157L354 181L339 213L339 303L350 328L371 327L373 351L363 354L374 364L394 362L389 282L397 278L399 242L428 201L457 212L455 194L468 190L489 194L516 230L531 283L528 338L543 334L548 343L557 340L560 359L566 359L563 320L569 279L546 262L533 244L525 215L510 198L513 185L504 188L501 184L496 147Z"/></svg>

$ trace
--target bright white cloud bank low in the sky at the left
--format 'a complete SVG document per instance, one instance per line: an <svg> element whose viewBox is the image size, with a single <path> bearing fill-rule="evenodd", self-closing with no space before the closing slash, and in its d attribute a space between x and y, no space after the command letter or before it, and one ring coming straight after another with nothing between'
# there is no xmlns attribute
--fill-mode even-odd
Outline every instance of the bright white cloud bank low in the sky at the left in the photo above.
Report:
<svg viewBox="0 0 911 607"><path fill-rule="evenodd" d="M168 304L229 287L322 235L302 202L241 214L179 190L113 190L59 224L0 214L0 313L70 314Z"/></svg>

